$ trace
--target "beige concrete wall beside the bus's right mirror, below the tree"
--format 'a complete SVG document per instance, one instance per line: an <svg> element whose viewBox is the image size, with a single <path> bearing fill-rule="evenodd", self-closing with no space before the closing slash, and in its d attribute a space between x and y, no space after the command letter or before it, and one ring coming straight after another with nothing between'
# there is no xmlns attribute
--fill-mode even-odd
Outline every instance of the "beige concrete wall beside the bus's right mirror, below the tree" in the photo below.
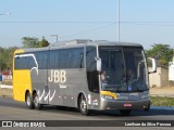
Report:
<svg viewBox="0 0 174 130"><path fill-rule="evenodd" d="M169 69L163 67L158 67L157 73L149 74L150 87L166 87L170 84L169 81Z"/></svg>

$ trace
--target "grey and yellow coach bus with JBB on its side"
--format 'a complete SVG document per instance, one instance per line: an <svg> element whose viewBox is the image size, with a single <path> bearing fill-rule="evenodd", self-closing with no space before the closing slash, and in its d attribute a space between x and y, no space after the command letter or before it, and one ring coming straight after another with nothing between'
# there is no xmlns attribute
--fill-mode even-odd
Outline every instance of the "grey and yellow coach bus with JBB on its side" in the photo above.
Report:
<svg viewBox="0 0 174 130"><path fill-rule="evenodd" d="M28 108L76 107L83 115L150 108L148 65L138 43L77 39L18 49L13 58L13 99Z"/></svg>

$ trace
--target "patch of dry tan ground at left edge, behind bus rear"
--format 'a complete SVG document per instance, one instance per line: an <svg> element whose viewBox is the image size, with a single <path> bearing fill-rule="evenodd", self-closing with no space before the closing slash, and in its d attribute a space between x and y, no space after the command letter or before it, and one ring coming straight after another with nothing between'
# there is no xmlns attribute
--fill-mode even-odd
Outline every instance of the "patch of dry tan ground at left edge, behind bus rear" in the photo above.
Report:
<svg viewBox="0 0 174 130"><path fill-rule="evenodd" d="M8 89L8 88L0 88L0 96L9 96L12 98L13 96L13 89Z"/></svg>

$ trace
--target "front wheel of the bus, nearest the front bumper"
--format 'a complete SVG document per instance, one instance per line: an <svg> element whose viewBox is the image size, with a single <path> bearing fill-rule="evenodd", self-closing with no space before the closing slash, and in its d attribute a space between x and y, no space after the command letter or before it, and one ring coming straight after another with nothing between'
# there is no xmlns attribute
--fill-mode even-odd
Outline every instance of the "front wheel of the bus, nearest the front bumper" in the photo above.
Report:
<svg viewBox="0 0 174 130"><path fill-rule="evenodd" d="M78 108L79 108L79 112L83 114L83 115L90 115L91 110L87 108L87 102L86 102L86 99L84 96L84 94L79 98L79 105L78 105Z"/></svg>

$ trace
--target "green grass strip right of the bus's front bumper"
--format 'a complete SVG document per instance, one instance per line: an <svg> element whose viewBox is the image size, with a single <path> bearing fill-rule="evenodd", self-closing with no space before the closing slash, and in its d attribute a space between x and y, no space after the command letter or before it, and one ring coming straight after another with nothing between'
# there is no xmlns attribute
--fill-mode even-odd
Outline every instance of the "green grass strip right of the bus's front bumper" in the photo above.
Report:
<svg viewBox="0 0 174 130"><path fill-rule="evenodd" d="M153 106L174 106L174 98L151 96L150 101Z"/></svg>

